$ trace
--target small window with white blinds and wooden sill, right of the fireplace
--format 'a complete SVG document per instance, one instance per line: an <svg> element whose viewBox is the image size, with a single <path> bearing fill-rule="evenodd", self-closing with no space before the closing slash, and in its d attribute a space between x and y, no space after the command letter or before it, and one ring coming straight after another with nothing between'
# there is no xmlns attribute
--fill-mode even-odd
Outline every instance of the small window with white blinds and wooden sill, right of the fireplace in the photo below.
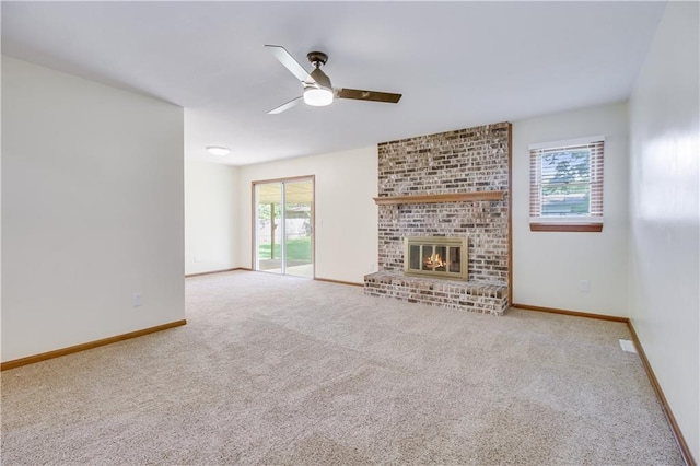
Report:
<svg viewBox="0 0 700 466"><path fill-rule="evenodd" d="M602 136L529 147L532 231L603 230Z"/></svg>

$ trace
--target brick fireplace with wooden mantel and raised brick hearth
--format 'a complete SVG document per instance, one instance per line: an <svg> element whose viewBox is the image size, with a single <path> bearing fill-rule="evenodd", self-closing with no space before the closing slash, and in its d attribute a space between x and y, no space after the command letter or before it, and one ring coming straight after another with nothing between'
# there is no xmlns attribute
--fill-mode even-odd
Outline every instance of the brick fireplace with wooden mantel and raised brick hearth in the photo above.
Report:
<svg viewBox="0 0 700 466"><path fill-rule="evenodd" d="M375 296L495 315L510 305L511 125L500 123L378 145ZM405 241L468 238L459 277L405 273ZM433 267L434 269L434 267Z"/></svg>

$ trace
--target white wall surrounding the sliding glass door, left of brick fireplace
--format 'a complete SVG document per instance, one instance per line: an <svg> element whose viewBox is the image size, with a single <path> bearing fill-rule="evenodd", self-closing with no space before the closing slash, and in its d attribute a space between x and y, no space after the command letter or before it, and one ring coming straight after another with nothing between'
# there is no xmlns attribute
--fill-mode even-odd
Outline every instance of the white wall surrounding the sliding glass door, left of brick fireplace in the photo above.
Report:
<svg viewBox="0 0 700 466"><path fill-rule="evenodd" d="M316 176L316 277L362 283L376 271L376 147L241 167L238 265L252 267L252 182L305 175Z"/></svg>

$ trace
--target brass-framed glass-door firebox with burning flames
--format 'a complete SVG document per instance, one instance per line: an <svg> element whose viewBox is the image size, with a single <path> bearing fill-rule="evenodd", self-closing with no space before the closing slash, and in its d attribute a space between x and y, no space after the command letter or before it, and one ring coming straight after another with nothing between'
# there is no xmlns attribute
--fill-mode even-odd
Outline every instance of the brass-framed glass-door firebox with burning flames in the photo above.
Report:
<svg viewBox="0 0 700 466"><path fill-rule="evenodd" d="M404 238L404 272L467 280L468 238L407 236Z"/></svg>

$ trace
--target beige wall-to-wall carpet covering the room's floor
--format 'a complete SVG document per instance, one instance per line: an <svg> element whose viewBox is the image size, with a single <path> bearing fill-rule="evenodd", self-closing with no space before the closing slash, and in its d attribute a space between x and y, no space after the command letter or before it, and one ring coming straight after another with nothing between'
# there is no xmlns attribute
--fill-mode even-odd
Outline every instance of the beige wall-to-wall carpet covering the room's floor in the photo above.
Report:
<svg viewBox="0 0 700 466"><path fill-rule="evenodd" d="M3 372L2 464L682 464L623 324L244 271L187 319Z"/></svg>

